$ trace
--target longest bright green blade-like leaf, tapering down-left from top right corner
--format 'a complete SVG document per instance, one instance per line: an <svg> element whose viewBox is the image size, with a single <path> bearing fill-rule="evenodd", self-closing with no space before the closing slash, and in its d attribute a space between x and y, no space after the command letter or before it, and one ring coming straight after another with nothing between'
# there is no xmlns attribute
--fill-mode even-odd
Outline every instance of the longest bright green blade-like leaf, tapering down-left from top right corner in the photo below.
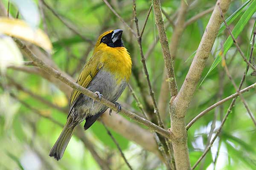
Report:
<svg viewBox="0 0 256 170"><path fill-rule="evenodd" d="M256 1L253 1L250 6L247 8L247 10L244 12L244 14L242 15L242 17L240 18L240 20L238 21L238 23L236 24L235 28L232 31L232 34L235 38L237 38L239 36L239 34L241 33L241 31L244 29L244 27L246 26L246 24L248 23L248 21L250 20L250 18L252 17L252 15L255 13L256 11ZM233 45L233 39L231 36L229 36L227 38L227 40L225 41L224 45L223 45L223 55L227 54L227 51L230 49L230 47ZM209 73L218 65L218 63L221 62L221 55L222 55L222 51L220 52L220 54L218 54L218 56L215 58L214 62L212 63L209 71L207 72L206 76L204 77L204 79L209 75ZM202 82L200 83L200 85L204 82L204 79L202 80ZM199 86L200 86L199 85Z"/></svg>

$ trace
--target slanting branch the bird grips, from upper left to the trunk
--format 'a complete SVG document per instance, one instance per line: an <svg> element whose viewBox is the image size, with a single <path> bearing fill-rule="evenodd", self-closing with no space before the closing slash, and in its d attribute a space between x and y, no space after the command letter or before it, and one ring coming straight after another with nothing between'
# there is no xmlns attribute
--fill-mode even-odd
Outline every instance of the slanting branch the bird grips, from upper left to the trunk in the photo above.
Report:
<svg viewBox="0 0 256 170"><path fill-rule="evenodd" d="M67 77L64 77L59 71L55 70L54 68L50 67L49 65L45 64L41 59L35 56L32 51L29 50L29 48L26 47L26 45L23 44L20 40L15 39L15 42L17 43L18 47L23 49L23 52L40 68L42 68L47 73L51 74L53 77L61 80L65 84L69 85L71 88L80 91L82 94L85 94L86 96L89 96L90 98L94 99L97 102L102 103L103 105L107 106L108 108L111 108L113 111L117 111L116 105L107 99L103 98L99 100L99 97L97 94L89 91L87 88L83 88L82 86L78 85L75 82L70 81ZM136 115L135 113L132 113L124 108L122 108L121 113L123 113L125 116L128 116L129 118L135 120L136 122L139 122L147 127L149 127L151 130L156 131L157 133L165 136L166 138L172 140L173 136L172 133L168 132L167 130L163 129L162 127L159 127L155 125L154 123L144 119L143 117L140 117Z"/></svg>

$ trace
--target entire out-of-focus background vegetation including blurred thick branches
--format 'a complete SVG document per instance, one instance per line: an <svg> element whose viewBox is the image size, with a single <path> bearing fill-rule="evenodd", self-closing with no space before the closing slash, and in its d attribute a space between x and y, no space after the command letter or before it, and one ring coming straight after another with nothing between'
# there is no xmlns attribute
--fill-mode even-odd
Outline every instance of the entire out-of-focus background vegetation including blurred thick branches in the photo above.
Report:
<svg viewBox="0 0 256 170"><path fill-rule="evenodd" d="M52 42L51 54L44 51L44 49L47 50L44 45L48 42L43 41L39 44L41 47L39 50L26 39L26 32L22 32L22 29L17 31L20 31L19 34L29 41L26 45L33 49L34 53L37 50L35 53L37 56L44 56L41 57L44 62L62 73L66 73L64 75L70 75L73 77L73 81L79 76L84 63L91 57L93 45L98 36L110 29L121 28L124 30L124 45L133 60L133 71L129 84L140 104L134 99L128 87L118 101L123 108L139 116L143 116L140 110L142 106L151 121L157 124L147 80L143 73L143 64L140 62L141 55L137 39L103 1L11 0L9 5L8 3L8 0L0 0L0 15L6 17L3 8L7 10L9 6L10 17L17 16L17 11L20 11L17 16L19 19L25 20L34 29L41 28ZM133 1L111 0L109 3L128 26L136 30ZM187 0L187 2L161 0L166 35L174 58L173 65L178 89L182 86L189 71L215 3L215 0ZM240 8L243 4L246 4L244 8ZM236 31L233 34L238 36L237 42L248 59L251 47L255 44L253 31L256 21L254 6L256 5L253 6L253 4L255 4L254 0L247 2L233 0L225 15L225 18L231 16L230 28L234 28ZM150 6L150 0L136 1L140 31L144 26ZM181 9L184 6L186 6L186 10L184 15L181 15ZM252 9L248 10L249 6L252 6ZM202 15L198 16L197 14ZM193 20L195 16L197 17ZM181 23L179 23L180 17L183 17ZM180 28L179 36L177 36L177 32L175 33L175 28L176 31L177 28ZM2 31L0 29L0 32ZM177 37L174 37L174 34ZM229 33L223 24L199 81L201 85L198 84L187 110L186 124L215 102L236 93L236 88L226 74L225 66L228 67L233 81L238 86L244 75L246 62L241 58L236 46L232 45L231 38L230 46L225 46L228 37ZM63 159L55 161L50 158L49 150L66 122L71 88L61 84L60 81L40 68L33 66L24 51L22 51L23 58L19 54L16 55L17 51L14 48L10 46L8 48L8 45L6 47L7 42L4 41L4 38L4 35L0 34L0 50L4 48L11 52L3 52L4 50L0 52L0 62L2 62L0 63L0 169L95 170L104 169L105 165L108 165L111 170L128 169L116 144L108 135L108 131L101 121L110 130L133 169L167 169L168 166L166 167L163 163L163 156L158 153L158 147L152 135L153 131L123 116L122 113L120 115L112 113L112 116L109 116L107 112L86 132L81 131L82 128L78 129L76 135L73 135ZM177 42L176 46L174 42ZM164 74L165 64L155 25L154 11L149 14L145 26L142 49L160 116L165 127L170 127L168 79ZM222 51L226 51L226 54L224 52L225 55L222 55ZM17 63L3 65L3 58L11 57L7 54L14 55L14 53L17 57L14 60ZM250 60L252 64L256 63L255 54L256 52L253 51ZM225 60L221 57L224 57ZM18 62L19 60L20 62ZM7 67L6 70L5 67ZM210 69L213 67L215 68ZM207 74L209 70L210 72ZM255 82L255 72L249 69L242 88ZM255 89L250 89L249 92L243 94L254 117L256 116L255 92ZM188 149L192 166L209 145L212 136L216 134L230 103L231 100L228 100L209 111L189 128ZM196 169L256 169L256 126L247 112L239 97L211 150ZM109 122L109 119L113 122ZM145 131L141 131L141 129ZM140 135L136 136L137 133ZM140 138L148 139L148 142ZM160 137L160 139L164 143L163 138ZM105 165L100 165L99 162L103 162Z"/></svg>

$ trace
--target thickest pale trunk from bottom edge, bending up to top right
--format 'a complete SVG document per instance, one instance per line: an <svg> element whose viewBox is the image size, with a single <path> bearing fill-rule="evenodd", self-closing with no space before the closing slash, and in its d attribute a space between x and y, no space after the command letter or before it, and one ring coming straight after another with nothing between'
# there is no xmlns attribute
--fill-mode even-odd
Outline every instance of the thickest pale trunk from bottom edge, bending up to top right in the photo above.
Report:
<svg viewBox="0 0 256 170"><path fill-rule="evenodd" d="M188 74L183 82L180 92L177 94L170 106L171 132L175 135L172 142L175 163L177 169L190 169L189 153L187 146L187 131L185 128L185 116L192 96L201 78L202 71L212 49L212 45L217 37L222 19L218 12L218 4L225 14L231 0L218 0L209 19L204 35L201 39Z"/></svg>

